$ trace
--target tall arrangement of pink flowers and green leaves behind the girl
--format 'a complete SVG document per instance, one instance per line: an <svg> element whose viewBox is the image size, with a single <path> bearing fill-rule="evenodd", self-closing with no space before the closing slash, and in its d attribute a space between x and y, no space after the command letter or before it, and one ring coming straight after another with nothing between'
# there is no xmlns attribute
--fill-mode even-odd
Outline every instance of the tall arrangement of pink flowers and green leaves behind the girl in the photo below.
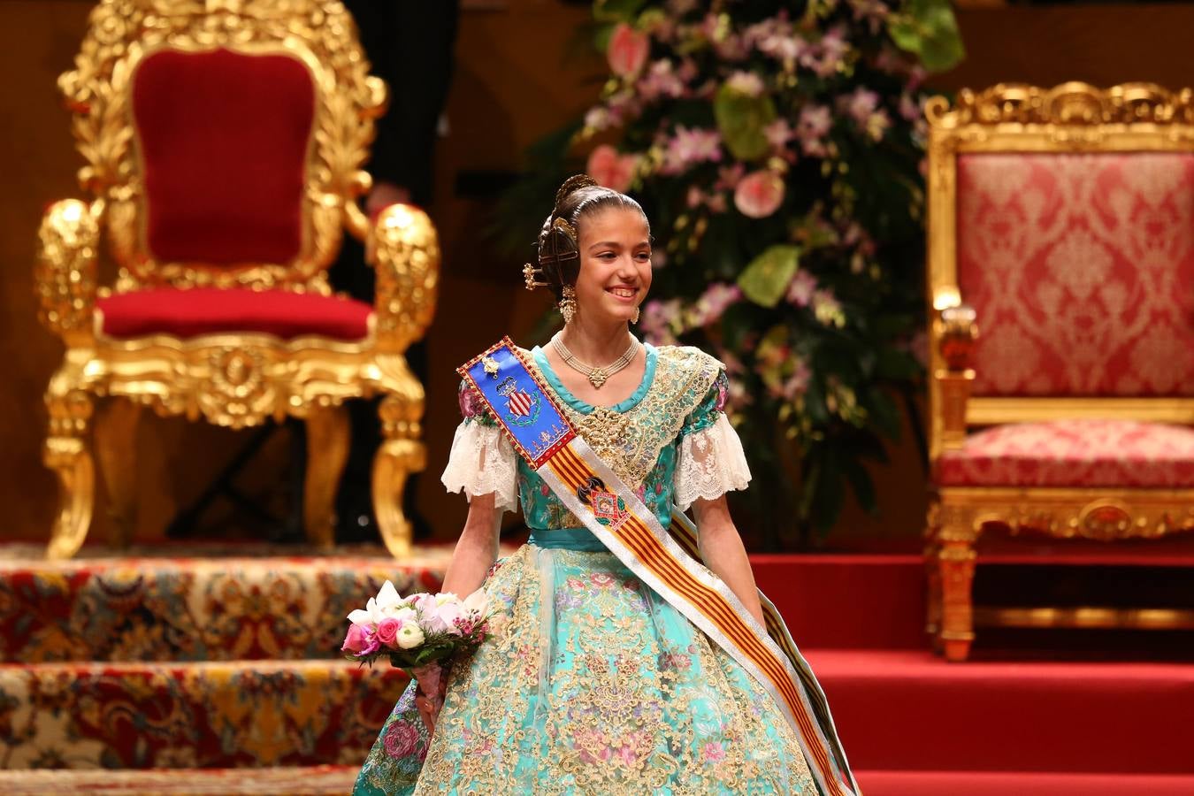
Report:
<svg viewBox="0 0 1194 796"><path fill-rule="evenodd" d="M767 547L784 518L827 531L847 485L874 511L863 462L923 384L922 85L962 56L948 1L597 0L593 18L598 101L506 206L580 168L642 203L640 332L728 368Z"/></svg>

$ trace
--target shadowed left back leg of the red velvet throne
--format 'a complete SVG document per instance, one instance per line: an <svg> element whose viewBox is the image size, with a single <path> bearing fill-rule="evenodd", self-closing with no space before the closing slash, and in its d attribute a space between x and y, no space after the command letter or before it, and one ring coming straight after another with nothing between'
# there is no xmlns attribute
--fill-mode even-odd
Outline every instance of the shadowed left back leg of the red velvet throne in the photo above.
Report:
<svg viewBox="0 0 1194 796"><path fill-rule="evenodd" d="M117 548L133 542L137 525L136 437L141 405L123 397L109 400L96 418L96 457L107 492Z"/></svg>

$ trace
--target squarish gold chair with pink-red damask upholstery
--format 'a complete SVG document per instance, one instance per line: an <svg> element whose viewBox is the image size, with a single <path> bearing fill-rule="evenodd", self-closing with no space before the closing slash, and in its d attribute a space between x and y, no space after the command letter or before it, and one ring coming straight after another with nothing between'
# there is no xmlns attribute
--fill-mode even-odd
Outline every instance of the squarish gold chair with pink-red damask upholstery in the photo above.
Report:
<svg viewBox="0 0 1194 796"><path fill-rule="evenodd" d="M962 660L977 618L1139 627L971 587L1001 527L1118 550L1194 530L1194 95L1001 85L927 112L929 630Z"/></svg>

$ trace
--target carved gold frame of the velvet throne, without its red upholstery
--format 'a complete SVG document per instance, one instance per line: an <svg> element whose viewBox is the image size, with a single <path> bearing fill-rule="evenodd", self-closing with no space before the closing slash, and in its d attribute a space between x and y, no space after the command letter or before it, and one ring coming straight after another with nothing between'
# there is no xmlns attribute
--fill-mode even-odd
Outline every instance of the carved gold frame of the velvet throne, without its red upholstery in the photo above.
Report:
<svg viewBox="0 0 1194 796"><path fill-rule="evenodd" d="M139 64L164 49L278 54L310 73L315 105L294 261L208 267L158 261L149 252L129 97ZM149 406L162 415L234 428L287 415L304 419L312 451L304 524L313 543L330 547L347 453L341 403L373 394L384 395L383 443L373 471L375 511L390 553L408 555L401 498L406 476L424 467L424 391L404 352L431 321L439 249L435 228L417 208L395 205L370 222L356 203L371 185L361 166L386 103L384 84L368 69L351 18L332 0L103 0L93 10L75 68L59 85L86 160L79 181L94 198L64 199L47 210L36 269L41 319L67 348L45 394L44 458L61 487L50 557L74 555L91 524L88 437L96 399L128 399L106 401L96 428L118 542L127 543L134 527L130 440L142 407ZM362 340L233 332L113 339L101 332L96 298L110 292L97 284L101 239L119 267L115 292L210 286L328 295L325 269L339 248L341 226L365 241L376 271L374 314Z"/></svg>

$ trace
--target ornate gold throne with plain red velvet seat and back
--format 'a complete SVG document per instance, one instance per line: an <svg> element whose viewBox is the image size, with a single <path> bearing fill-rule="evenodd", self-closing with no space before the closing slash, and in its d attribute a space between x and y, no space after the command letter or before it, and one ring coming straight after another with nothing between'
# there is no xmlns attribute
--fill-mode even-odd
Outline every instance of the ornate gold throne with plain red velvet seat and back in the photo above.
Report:
<svg viewBox="0 0 1194 796"><path fill-rule="evenodd" d="M42 320L66 344L50 381L45 462L61 483L50 557L91 524L93 409L121 542L134 519L129 439L146 406L230 427L306 420L304 523L332 544L346 399L383 395L374 500L389 550L420 469L423 388L404 359L431 319L435 229L395 205L367 218L361 166L383 110L356 29L333 0L101 0L60 87L86 200L41 227ZM333 296L344 229L367 243L376 301ZM115 285L100 288L100 263Z"/></svg>

